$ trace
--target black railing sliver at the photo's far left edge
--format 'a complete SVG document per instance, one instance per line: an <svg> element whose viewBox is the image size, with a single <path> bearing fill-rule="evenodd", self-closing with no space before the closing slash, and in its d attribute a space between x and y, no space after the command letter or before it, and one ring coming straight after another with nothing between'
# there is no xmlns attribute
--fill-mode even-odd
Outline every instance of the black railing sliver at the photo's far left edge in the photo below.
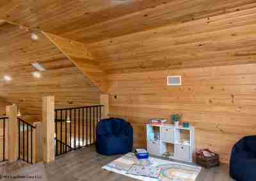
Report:
<svg viewBox="0 0 256 181"><path fill-rule="evenodd" d="M7 125L6 125L6 122L8 121L8 117L0 117L0 126L2 127L2 129L3 129L3 131L2 131L2 133L3 134L1 134L1 140L3 140L3 141L1 141L0 143L1 143L1 151L0 151L0 162L4 162L4 161L6 161L7 159L6 159L6 142L7 142L7 133L6 133L6 127L7 127Z"/></svg>

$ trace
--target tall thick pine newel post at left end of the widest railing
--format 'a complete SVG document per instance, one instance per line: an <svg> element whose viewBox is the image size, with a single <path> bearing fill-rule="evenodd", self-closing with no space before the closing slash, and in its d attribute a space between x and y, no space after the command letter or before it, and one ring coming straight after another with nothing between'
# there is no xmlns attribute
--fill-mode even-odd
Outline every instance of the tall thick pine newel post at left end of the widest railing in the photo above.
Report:
<svg viewBox="0 0 256 181"><path fill-rule="evenodd" d="M51 163L55 159L54 153L54 96L45 96L42 100L42 160Z"/></svg>

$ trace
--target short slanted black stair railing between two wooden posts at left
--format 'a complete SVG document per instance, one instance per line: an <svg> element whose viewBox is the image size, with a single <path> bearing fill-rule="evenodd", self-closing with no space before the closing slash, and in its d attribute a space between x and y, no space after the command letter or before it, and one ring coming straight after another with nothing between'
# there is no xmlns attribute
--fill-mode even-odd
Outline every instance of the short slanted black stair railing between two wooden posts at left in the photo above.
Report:
<svg viewBox="0 0 256 181"><path fill-rule="evenodd" d="M35 126L29 124L25 120L18 119L18 135L19 135L19 159L27 163L35 163L35 153L33 153L33 142L35 141Z"/></svg>

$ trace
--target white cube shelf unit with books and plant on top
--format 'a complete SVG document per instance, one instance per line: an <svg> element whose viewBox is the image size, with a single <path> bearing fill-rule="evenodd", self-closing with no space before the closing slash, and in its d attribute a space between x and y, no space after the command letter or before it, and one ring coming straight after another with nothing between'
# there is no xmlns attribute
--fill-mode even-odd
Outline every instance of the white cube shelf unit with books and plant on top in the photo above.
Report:
<svg viewBox="0 0 256 181"><path fill-rule="evenodd" d="M193 161L195 152L195 127L175 127L172 124L147 124L147 150L149 154L182 161Z"/></svg>

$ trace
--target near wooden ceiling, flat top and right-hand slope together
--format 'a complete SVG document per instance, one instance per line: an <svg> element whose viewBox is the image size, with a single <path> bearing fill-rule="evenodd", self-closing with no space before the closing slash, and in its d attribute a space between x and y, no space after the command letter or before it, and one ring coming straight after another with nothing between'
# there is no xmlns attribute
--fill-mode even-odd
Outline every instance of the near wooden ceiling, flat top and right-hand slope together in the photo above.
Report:
<svg viewBox="0 0 256 181"><path fill-rule="evenodd" d="M0 3L0 19L84 43L106 73L253 63L255 17L255 0Z"/></svg>

